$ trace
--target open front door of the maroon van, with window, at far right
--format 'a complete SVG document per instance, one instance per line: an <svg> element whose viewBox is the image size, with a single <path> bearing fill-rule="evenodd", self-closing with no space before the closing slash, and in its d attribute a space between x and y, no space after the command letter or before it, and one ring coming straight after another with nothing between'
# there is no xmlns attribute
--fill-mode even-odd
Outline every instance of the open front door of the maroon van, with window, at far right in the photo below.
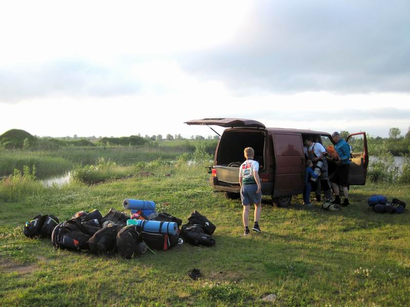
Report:
<svg viewBox="0 0 410 307"><path fill-rule="evenodd" d="M368 166L366 132L349 134L346 141L351 147L349 185L365 185Z"/></svg>

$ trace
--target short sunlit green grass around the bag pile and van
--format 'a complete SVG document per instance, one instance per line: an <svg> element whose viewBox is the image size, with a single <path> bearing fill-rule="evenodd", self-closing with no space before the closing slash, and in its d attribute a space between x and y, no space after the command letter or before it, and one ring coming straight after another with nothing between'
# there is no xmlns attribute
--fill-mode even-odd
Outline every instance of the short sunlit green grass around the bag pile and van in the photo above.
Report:
<svg viewBox="0 0 410 307"><path fill-rule="evenodd" d="M408 209L376 214L366 204L373 193L408 204L408 185L353 187L352 206L336 213L318 203L306 209L300 196L286 209L264 198L263 233L243 237L240 202L213 193L202 166L150 167L147 177L38 186L0 203L0 305L410 305ZM105 214L128 197L154 200L183 222L198 210L217 226L216 247L184 244L124 260L55 250L50 240L23 235L24 222L36 214L60 220L79 210ZM188 276L194 268L203 275L198 280ZM261 300L269 294L273 303Z"/></svg>

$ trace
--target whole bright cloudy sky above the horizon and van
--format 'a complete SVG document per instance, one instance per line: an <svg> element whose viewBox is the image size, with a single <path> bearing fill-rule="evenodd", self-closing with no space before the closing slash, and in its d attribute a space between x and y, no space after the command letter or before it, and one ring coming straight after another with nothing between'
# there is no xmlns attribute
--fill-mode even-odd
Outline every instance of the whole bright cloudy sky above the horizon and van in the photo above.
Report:
<svg viewBox="0 0 410 307"><path fill-rule="evenodd" d="M0 3L0 134L410 127L410 2ZM221 133L223 128L217 127Z"/></svg>

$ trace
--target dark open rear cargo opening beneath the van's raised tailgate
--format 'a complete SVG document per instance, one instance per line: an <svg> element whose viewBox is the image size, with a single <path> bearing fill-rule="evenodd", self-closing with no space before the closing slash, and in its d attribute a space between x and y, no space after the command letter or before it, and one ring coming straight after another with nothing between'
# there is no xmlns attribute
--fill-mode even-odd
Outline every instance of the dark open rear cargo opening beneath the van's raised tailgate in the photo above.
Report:
<svg viewBox="0 0 410 307"><path fill-rule="evenodd" d="M225 131L219 141L216 155L216 165L239 167L245 157L243 150L252 147L255 151L254 160L259 162L259 167L264 166L265 133L260 130L230 130Z"/></svg>

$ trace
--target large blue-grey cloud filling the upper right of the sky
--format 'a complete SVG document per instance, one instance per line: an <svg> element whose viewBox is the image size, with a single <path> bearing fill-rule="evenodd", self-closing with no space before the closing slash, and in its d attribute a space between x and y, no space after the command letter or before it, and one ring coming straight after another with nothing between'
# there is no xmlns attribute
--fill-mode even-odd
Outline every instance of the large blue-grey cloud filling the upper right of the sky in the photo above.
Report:
<svg viewBox="0 0 410 307"><path fill-rule="evenodd" d="M185 55L183 67L238 94L410 92L407 0L254 4L233 43Z"/></svg>

